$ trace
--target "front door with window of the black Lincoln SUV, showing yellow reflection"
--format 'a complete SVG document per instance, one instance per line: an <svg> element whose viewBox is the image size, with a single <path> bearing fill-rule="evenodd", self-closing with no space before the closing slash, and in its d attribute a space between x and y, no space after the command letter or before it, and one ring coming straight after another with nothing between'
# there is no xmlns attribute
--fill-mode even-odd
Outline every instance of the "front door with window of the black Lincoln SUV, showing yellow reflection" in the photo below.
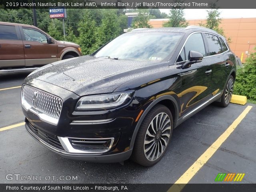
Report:
<svg viewBox="0 0 256 192"><path fill-rule="evenodd" d="M184 64L188 60L189 51L197 51L206 56L206 46L200 32L188 37L176 64ZM212 65L203 58L202 62L181 69L179 75L182 77L181 116L186 116L211 98Z"/></svg>

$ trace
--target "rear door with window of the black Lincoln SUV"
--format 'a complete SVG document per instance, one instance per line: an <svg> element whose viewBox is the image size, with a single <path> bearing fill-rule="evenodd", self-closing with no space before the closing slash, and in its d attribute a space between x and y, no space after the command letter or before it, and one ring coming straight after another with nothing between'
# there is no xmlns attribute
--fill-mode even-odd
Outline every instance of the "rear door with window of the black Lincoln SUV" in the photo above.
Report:
<svg viewBox="0 0 256 192"><path fill-rule="evenodd" d="M229 68L231 68L229 56L226 52L228 48L221 46L218 36L208 33L204 33L204 36L208 45L207 59L212 62L213 89L211 91L217 94L224 89L229 75L228 71L230 71Z"/></svg>

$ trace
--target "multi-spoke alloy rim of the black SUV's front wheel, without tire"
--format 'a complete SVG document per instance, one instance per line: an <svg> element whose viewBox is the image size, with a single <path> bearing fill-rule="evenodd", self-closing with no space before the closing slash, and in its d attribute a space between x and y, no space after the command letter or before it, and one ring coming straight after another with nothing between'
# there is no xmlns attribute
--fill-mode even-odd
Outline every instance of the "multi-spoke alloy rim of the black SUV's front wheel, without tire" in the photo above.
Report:
<svg viewBox="0 0 256 192"><path fill-rule="evenodd" d="M144 154L149 161L158 159L164 152L171 133L171 121L168 114L157 114L150 122L145 139Z"/></svg>

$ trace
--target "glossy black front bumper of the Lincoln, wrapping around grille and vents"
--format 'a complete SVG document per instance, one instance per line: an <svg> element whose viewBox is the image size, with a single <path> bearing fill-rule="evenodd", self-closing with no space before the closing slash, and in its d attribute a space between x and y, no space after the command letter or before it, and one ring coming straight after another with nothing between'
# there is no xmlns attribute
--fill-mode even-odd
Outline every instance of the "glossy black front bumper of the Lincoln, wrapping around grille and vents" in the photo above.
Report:
<svg viewBox="0 0 256 192"><path fill-rule="evenodd" d="M28 78L25 83L58 96L63 101L60 118L56 125L45 122L33 111L25 110L22 107L22 111L26 116L26 129L38 142L61 156L72 159L94 162L120 162L130 157L132 153L131 140L137 124L135 120L142 109L142 105L136 98L133 98L132 102L126 106L112 110L75 111L74 106L76 106L80 98L77 94L36 79ZM52 135L50 140L57 142L57 145L49 144L47 140L40 138L31 129L29 130L29 125L38 128L45 135ZM59 138L63 139L59 140ZM112 143L110 144L109 142L105 145L110 146L108 150L102 149L91 152L89 149L87 152L87 149L82 149L84 151L79 152L77 151L79 146L72 145L72 138L81 139L80 142L83 142L84 138L87 141L110 139ZM68 140L70 143L67 143ZM66 142L68 145L61 142Z"/></svg>

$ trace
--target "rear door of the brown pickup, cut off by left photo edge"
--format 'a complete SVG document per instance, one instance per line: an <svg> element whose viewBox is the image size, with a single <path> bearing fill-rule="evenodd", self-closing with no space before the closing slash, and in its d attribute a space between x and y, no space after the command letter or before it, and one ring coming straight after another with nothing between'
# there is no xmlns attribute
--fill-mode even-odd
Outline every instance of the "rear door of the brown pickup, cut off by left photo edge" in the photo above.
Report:
<svg viewBox="0 0 256 192"><path fill-rule="evenodd" d="M18 26L0 24L0 68L24 66L24 48Z"/></svg>

